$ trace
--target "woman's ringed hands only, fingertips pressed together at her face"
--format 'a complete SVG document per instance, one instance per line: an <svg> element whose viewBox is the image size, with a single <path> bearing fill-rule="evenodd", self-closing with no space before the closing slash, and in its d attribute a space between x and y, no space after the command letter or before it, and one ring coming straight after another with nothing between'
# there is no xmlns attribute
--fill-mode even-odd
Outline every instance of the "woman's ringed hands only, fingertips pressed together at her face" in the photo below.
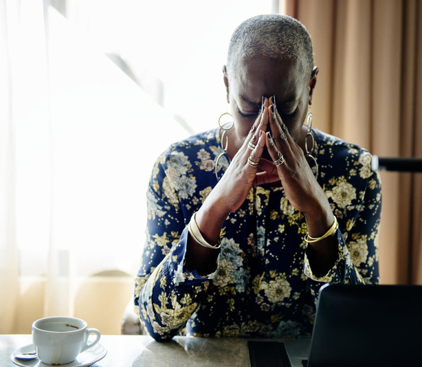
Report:
<svg viewBox="0 0 422 367"><path fill-rule="evenodd" d="M272 162L262 157L265 146ZM329 209L302 148L291 137L271 97L265 98L247 138L214 190L225 197L222 202L229 213L242 205L252 186L276 181L281 181L291 205L305 215Z"/></svg>

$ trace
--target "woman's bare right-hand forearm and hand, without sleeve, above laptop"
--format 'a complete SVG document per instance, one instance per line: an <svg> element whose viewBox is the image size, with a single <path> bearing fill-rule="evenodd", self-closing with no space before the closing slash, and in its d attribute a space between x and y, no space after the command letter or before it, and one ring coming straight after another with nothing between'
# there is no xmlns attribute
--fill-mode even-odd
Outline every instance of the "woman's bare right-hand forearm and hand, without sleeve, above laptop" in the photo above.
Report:
<svg viewBox="0 0 422 367"><path fill-rule="evenodd" d="M282 157L282 164L263 161L266 170L263 177L278 176L286 197L296 210L304 214L309 236L323 236L335 223L333 211L320 184L315 179L302 148L293 140L282 122L274 98L270 99L267 148L273 162ZM315 243L309 243L309 262L317 276L323 276L338 258L335 233Z"/></svg>

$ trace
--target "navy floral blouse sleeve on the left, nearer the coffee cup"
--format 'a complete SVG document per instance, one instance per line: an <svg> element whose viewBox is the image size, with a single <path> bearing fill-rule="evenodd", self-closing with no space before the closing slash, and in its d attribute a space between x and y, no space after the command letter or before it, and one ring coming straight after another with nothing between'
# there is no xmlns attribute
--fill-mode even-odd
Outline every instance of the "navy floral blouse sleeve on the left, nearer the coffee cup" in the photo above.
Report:
<svg viewBox="0 0 422 367"><path fill-rule="evenodd" d="M174 167L168 166L168 157L157 160L151 175L146 243L135 279L135 311L155 340L169 340L184 328L206 295L208 280L218 272L199 276L196 270L184 270L190 217L181 209L177 190L184 183L172 181Z"/></svg>

